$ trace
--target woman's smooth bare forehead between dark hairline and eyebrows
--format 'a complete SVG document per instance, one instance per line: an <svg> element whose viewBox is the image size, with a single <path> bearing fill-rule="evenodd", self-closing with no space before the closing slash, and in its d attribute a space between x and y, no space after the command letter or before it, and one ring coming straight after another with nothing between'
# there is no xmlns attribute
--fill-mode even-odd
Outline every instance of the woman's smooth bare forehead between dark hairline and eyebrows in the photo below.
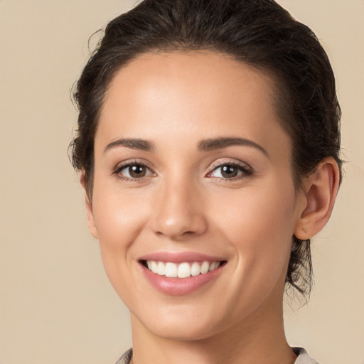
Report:
<svg viewBox="0 0 364 364"><path fill-rule="evenodd" d="M158 141L166 136L207 139L240 134L259 144L283 139L287 144L274 89L269 75L226 55L146 53L110 82L97 139L105 144L120 137Z"/></svg>

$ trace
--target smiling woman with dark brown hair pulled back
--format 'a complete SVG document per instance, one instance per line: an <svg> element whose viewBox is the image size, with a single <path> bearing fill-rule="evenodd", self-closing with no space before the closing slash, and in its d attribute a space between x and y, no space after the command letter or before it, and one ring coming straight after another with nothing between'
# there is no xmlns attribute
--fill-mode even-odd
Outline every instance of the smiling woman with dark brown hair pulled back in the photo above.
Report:
<svg viewBox="0 0 364 364"><path fill-rule="evenodd" d="M77 83L73 164L132 317L118 363L316 363L284 335L341 179L323 48L271 0L146 0Z"/></svg>

